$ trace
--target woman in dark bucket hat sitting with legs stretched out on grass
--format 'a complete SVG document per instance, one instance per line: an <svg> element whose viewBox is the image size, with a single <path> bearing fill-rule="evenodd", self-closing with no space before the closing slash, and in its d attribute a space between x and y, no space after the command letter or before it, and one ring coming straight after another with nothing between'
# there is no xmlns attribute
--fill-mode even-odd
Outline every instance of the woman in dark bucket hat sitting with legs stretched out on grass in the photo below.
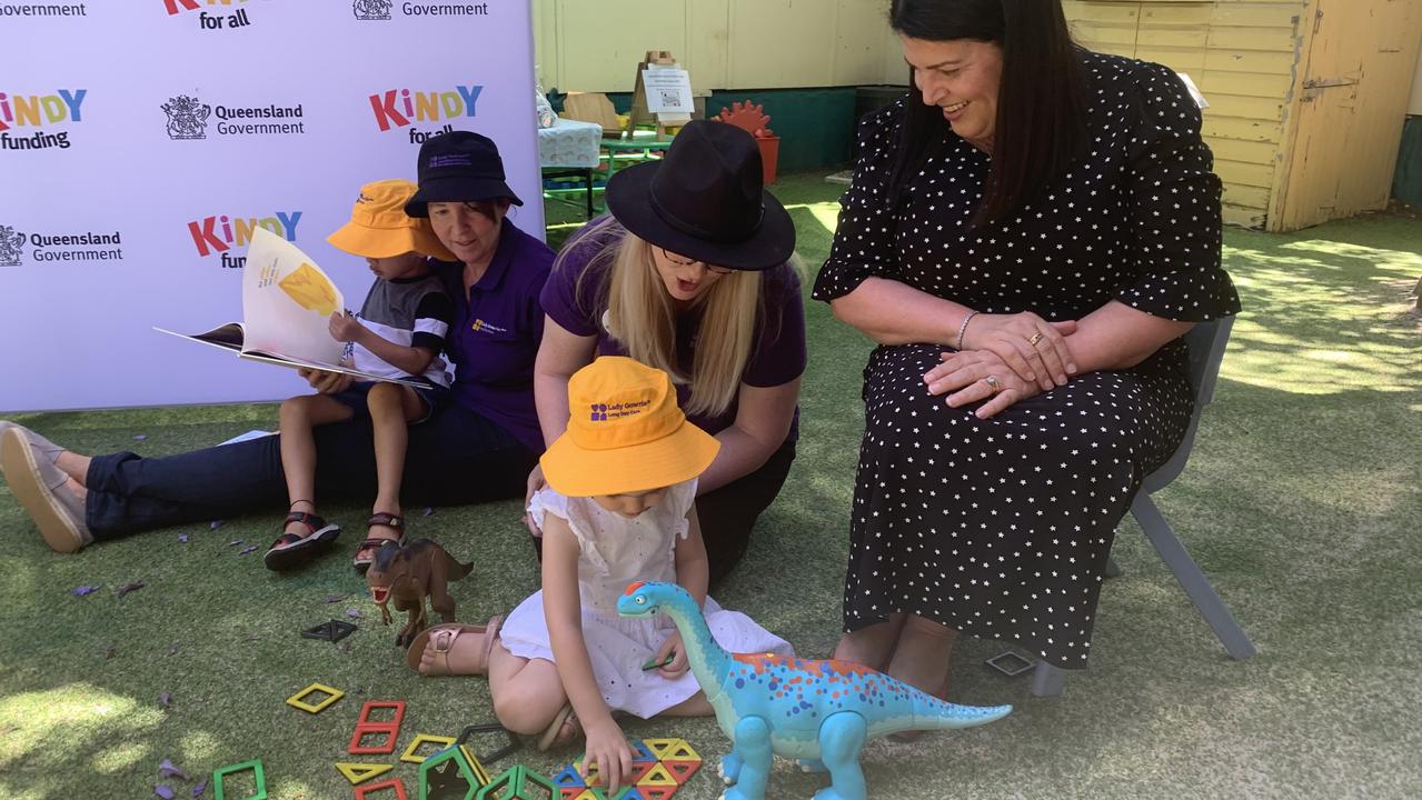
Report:
<svg viewBox="0 0 1422 800"><path fill-rule="evenodd" d="M405 210L428 215L435 234L462 263L437 264L455 307L447 357L456 374L449 405L410 429L402 486L414 503L518 497L543 450L533 358L543 334L539 293L553 252L505 219L510 205L522 202L505 183L491 139L456 131L419 148L419 192ZM333 372L307 379L323 392L348 382ZM286 504L277 436L151 459L81 456L9 422L0 422L0 436L10 449L28 448L28 458L6 460L6 480L37 499L26 510L50 547L63 553L94 540ZM316 452L319 496L373 496L368 421L316 428ZM11 463L24 467L10 469ZM381 524L368 533L398 536Z"/></svg>

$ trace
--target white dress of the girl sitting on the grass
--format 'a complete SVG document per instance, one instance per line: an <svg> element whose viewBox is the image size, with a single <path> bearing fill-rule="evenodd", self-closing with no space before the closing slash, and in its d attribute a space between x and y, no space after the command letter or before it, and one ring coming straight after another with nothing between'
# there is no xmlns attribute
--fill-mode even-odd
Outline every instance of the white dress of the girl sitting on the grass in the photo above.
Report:
<svg viewBox="0 0 1422 800"><path fill-rule="evenodd" d="M678 483L665 497L637 517L624 517L599 506L592 497L565 497L552 489L533 494L529 514L539 527L553 514L573 530L582 557L577 588L583 602L583 641L593 664L597 686L611 710L643 719L697 693L697 679L687 672L667 681L641 665L675 631L665 615L623 618L617 598L633 581L675 581L675 546L685 539L687 510L695 502L695 479ZM705 618L715 641L731 652L776 652L793 655L791 645L738 611L727 611L707 597ZM519 604L503 622L503 647L519 658L555 661L543 618L543 593Z"/></svg>

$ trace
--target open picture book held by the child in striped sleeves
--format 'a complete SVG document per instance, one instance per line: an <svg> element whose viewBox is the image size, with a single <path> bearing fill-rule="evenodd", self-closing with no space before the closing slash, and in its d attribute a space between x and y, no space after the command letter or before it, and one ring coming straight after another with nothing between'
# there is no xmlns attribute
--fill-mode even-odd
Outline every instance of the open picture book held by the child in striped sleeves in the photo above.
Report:
<svg viewBox="0 0 1422 800"><path fill-rule="evenodd" d="M341 364L346 344L331 338L331 314L346 308L341 290L300 247L259 227L242 274L242 321L202 334L175 335L290 369L326 369L363 381L422 387L414 379L371 375Z"/></svg>

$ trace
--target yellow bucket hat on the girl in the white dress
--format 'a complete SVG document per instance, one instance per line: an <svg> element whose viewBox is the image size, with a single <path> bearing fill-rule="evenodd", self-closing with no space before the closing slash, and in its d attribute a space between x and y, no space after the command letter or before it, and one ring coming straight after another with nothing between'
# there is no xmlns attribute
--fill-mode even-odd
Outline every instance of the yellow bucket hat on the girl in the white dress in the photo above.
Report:
<svg viewBox="0 0 1422 800"><path fill-rule="evenodd" d="M543 477L569 497L626 494L691 480L721 442L677 406L661 369L604 355L567 382L567 431L543 453Z"/></svg>

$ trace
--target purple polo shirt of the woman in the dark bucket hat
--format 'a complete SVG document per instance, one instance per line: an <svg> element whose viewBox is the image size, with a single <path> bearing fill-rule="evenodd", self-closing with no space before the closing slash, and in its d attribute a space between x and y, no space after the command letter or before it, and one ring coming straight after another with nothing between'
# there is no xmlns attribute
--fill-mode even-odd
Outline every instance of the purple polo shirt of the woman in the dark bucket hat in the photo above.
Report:
<svg viewBox="0 0 1422 800"><path fill-rule="evenodd" d="M455 367L454 402L536 453L543 452L543 432L533 405L533 358L543 338L539 293L552 266L553 250L505 219L499 249L468 294L462 266L444 264L439 273L454 300L445 344Z"/></svg>

